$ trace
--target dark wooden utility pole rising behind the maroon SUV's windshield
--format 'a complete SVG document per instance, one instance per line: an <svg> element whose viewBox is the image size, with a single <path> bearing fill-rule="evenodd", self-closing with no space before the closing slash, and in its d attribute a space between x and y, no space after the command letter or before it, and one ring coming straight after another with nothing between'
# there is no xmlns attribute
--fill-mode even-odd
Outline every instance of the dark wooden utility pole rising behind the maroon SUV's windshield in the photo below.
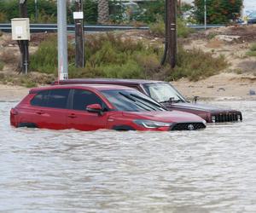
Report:
<svg viewBox="0 0 256 213"><path fill-rule="evenodd" d="M167 61L174 68L177 64L177 0L166 1Z"/></svg>

